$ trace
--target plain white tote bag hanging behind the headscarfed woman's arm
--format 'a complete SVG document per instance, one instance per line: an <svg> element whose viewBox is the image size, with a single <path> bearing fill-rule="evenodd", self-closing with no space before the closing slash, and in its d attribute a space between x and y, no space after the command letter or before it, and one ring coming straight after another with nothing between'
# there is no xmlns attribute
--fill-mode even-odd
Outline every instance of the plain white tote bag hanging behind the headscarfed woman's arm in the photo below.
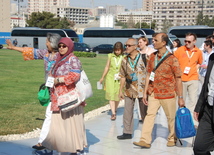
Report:
<svg viewBox="0 0 214 155"><path fill-rule="evenodd" d="M91 83L84 70L81 71L80 80L76 83L76 89L81 102L93 95Z"/></svg>

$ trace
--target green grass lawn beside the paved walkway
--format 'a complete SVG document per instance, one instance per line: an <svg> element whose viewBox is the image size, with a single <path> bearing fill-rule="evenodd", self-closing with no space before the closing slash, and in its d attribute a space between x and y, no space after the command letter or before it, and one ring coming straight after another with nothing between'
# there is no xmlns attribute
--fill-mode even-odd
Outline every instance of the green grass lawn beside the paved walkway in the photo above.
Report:
<svg viewBox="0 0 214 155"><path fill-rule="evenodd" d="M86 100L85 113L108 104L105 92L96 89L107 55L80 58L93 87L93 97ZM39 86L44 83L43 60L24 61L22 54L0 49L0 135L17 134L41 128L46 107L37 99Z"/></svg>

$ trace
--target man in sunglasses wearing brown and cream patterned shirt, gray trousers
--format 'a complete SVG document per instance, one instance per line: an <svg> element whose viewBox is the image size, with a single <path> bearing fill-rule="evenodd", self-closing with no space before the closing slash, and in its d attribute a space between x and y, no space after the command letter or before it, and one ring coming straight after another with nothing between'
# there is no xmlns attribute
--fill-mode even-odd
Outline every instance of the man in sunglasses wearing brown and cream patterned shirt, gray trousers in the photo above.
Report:
<svg viewBox="0 0 214 155"><path fill-rule="evenodd" d="M130 38L125 44L128 54L121 63L120 68L120 99L125 100L123 114L123 134L117 136L117 139L131 139L133 132L133 110L135 99L138 99L142 121L146 116L147 106L143 104L143 90L145 87L146 65L142 55L137 50L137 39ZM124 94L123 94L124 92Z"/></svg>

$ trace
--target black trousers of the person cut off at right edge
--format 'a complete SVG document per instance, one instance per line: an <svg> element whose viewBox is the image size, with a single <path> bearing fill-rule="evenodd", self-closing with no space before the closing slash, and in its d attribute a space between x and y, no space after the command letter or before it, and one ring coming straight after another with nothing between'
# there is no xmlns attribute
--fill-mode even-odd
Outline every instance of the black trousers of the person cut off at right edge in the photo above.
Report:
<svg viewBox="0 0 214 155"><path fill-rule="evenodd" d="M213 107L206 103L197 129L193 147L194 155L210 155L210 151L214 149L214 126L212 114Z"/></svg>

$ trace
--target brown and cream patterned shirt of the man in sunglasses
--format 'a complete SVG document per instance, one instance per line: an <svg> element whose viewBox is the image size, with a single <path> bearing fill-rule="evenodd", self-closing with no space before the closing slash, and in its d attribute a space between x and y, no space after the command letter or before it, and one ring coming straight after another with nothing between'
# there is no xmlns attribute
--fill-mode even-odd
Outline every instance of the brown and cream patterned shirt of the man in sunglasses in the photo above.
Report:
<svg viewBox="0 0 214 155"><path fill-rule="evenodd" d="M126 56L122 60L120 68L120 76L123 78L131 79L131 84L125 83L125 96L130 98L142 98L143 91L145 88L145 79L146 79L146 67L144 65L142 55L139 54L139 58L136 66L132 69L130 62L128 61L129 56ZM137 59L137 56L136 58ZM130 58L132 64L134 64L133 59Z"/></svg>

